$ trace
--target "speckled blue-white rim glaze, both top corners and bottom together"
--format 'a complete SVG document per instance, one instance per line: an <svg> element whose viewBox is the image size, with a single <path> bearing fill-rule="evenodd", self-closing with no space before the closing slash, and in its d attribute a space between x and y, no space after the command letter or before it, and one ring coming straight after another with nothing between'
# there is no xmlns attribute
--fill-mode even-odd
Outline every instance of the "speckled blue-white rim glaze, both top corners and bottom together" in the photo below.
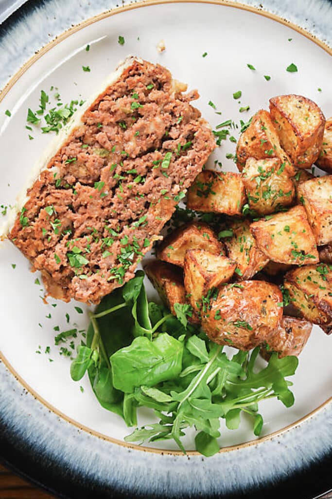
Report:
<svg viewBox="0 0 332 499"><path fill-rule="evenodd" d="M332 46L332 2L246 3L286 17ZM115 0L28 2L22 14L0 27L0 87L56 35L116 5ZM26 473L30 469L32 478L64 497L229 497L262 487L273 490L276 482L306 473L314 463L331 456L332 404L291 431L236 452L208 460L162 455L122 447L78 430L26 392L0 362L0 430L0 446L11 449L6 458ZM25 468L24 459L30 460ZM38 469L42 474L34 473ZM305 491L300 494L297 497L306 497Z"/></svg>

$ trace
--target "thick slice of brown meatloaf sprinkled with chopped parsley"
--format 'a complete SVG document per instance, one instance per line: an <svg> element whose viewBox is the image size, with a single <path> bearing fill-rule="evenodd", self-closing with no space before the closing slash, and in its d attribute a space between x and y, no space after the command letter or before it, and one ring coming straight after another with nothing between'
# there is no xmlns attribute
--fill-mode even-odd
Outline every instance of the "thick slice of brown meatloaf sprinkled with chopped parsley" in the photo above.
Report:
<svg viewBox="0 0 332 499"><path fill-rule="evenodd" d="M197 91L128 58L27 191L9 239L47 292L98 303L133 277L215 140Z"/></svg>

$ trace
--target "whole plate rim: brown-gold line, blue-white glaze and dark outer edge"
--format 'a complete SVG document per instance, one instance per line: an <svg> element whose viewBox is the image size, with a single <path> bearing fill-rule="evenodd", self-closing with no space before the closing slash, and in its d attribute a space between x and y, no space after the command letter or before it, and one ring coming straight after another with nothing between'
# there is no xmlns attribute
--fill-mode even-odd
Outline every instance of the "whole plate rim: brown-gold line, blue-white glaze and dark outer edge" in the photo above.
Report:
<svg viewBox="0 0 332 499"><path fill-rule="evenodd" d="M139 15L152 5L163 5L174 14L183 14L185 8L194 4L206 9L208 5L231 7L235 14L238 12L237 17L234 14L234 26L239 12L261 14L269 21L288 26L299 38L309 38L331 56L331 2L294 2L292 10L286 5L288 2L277 5L269 0L264 4L265 10L249 3L253 2L242 5L217 0L149 1L104 12L115 2L96 0L93 5L80 5L76 0L29 1L0 27L0 104L28 69L60 41L114 13L132 13L137 9L135 18L139 20ZM43 19L48 22L43 23ZM80 24L63 32L72 23ZM54 36L57 39L46 44ZM174 74L177 76L175 71ZM23 296L19 295L22 299ZM14 309L6 309L5 315L10 313ZM6 345L1 340L1 347L3 344ZM123 445L119 442L121 437L110 438L82 422L75 423L75 418L63 414L44 400L37 389L30 388L31 383L21 377L14 362L15 368L4 355L0 359L0 456L26 478L61 497L265 498L284 494L311 499L332 486L331 401L311 410L308 416L303 413L296 423L281 431L278 428L262 439L225 448L206 459L193 452L183 456L172 450Z"/></svg>

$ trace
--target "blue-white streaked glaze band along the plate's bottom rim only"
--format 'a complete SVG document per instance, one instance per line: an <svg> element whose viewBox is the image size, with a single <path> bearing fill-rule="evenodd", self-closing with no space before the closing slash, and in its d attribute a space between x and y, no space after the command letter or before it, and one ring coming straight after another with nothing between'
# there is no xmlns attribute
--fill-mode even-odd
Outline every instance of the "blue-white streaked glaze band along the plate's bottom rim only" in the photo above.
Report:
<svg viewBox="0 0 332 499"><path fill-rule="evenodd" d="M13 446L61 464L76 480L131 497L224 497L281 480L332 452L332 405L276 438L189 459L129 449L78 430L27 393L2 363L0 387L0 422L14 436Z"/></svg>

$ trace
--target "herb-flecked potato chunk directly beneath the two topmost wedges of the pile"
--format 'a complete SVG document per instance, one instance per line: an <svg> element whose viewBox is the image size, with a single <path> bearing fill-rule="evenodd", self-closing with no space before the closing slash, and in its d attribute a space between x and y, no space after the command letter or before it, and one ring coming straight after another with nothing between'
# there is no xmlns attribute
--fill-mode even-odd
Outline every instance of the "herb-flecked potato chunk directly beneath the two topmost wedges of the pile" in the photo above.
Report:
<svg viewBox="0 0 332 499"><path fill-rule="evenodd" d="M259 215L269 215L293 203L295 188L279 158L248 158L242 179L249 206Z"/></svg>

